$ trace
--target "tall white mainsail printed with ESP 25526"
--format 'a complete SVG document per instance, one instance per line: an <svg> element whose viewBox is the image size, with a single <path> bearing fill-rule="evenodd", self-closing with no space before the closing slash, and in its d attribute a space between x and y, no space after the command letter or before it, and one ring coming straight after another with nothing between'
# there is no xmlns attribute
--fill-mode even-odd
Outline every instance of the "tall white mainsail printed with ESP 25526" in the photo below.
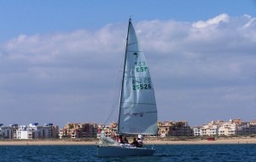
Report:
<svg viewBox="0 0 256 162"><path fill-rule="evenodd" d="M154 87L143 49L129 20L119 107L119 134L157 135Z"/></svg>

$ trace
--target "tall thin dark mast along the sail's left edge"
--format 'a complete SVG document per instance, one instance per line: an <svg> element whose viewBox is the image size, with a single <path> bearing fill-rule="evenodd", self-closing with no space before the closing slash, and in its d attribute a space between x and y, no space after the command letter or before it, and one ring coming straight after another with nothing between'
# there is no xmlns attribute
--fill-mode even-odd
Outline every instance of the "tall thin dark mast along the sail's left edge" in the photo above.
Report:
<svg viewBox="0 0 256 162"><path fill-rule="evenodd" d="M126 67L126 55L127 55L127 46L128 46L128 37L129 37L130 26L131 26L131 18L129 19L127 38L126 38L126 45L125 45L125 63L124 63L124 68L123 68L121 96L120 96L120 101L119 101L119 120L120 120L121 102L122 102L122 98L123 98L123 89L124 89L124 80L125 80L125 67ZM120 121L119 121L119 123L120 123ZM119 134L119 123L118 123L118 134Z"/></svg>

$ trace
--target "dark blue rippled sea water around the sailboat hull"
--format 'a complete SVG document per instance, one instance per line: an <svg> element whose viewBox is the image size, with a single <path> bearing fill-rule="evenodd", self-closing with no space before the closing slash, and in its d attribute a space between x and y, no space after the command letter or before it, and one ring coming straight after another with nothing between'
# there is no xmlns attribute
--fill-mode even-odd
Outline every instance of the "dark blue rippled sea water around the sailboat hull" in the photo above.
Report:
<svg viewBox="0 0 256 162"><path fill-rule="evenodd" d="M155 145L154 148L156 152L149 157L98 158L96 146L0 146L0 161L256 162L256 144Z"/></svg>

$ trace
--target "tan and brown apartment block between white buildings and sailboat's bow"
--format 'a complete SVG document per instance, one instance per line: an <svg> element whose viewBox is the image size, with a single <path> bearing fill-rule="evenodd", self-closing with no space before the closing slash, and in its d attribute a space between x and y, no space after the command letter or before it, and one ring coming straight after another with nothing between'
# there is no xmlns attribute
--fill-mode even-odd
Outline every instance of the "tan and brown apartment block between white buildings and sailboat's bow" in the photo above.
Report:
<svg viewBox="0 0 256 162"><path fill-rule="evenodd" d="M68 123L60 130L60 138L96 138L98 124Z"/></svg>

